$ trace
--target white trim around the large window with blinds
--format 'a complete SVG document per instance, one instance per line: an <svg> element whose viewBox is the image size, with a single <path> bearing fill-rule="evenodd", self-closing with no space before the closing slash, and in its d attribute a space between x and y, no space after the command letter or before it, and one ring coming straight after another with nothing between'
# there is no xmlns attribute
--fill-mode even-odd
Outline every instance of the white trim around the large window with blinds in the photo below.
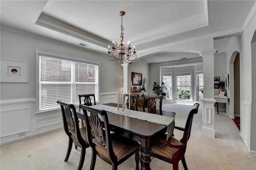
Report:
<svg viewBox="0 0 256 170"><path fill-rule="evenodd" d="M46 111L39 111L39 55L46 55L46 56L52 56L54 58L58 59L67 59L67 60L72 60L72 61L77 61L77 62L86 62L86 63L91 63L94 65L98 65L98 99L100 101L100 62L97 61L90 61L86 60L83 58L78 58L78 57L71 57L68 55L62 55L62 54L57 54L57 53L51 53L48 51L41 51L41 50L36 50L36 113L45 113L48 111L54 111L54 110L59 110L59 109L49 109Z"/></svg>

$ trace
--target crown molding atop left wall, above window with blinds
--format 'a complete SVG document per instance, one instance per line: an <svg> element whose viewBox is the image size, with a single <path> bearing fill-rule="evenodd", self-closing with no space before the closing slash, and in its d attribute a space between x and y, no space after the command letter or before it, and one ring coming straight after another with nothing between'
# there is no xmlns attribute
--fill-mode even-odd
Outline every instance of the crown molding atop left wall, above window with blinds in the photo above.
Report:
<svg viewBox="0 0 256 170"><path fill-rule="evenodd" d="M36 38L36 39L39 39L39 40L44 40L44 41L47 41L47 42L56 43L58 45L63 45L63 46L66 46L66 47L70 47L70 48L86 51L88 53L94 53L94 54L100 55L100 56L102 56L102 55L104 56L105 55L104 53L101 53L101 52L98 52L98 51L94 51L94 50L91 50L91 49L85 49L84 47L79 47L79 46L76 46L76 45L72 45L70 43L54 40L52 38L46 38L44 36L39 36L37 34L32 34L32 33L29 33L29 32L24 32L24 31L17 30L17 29L14 29L14 28L10 28L10 27L6 27L6 26L1 26L0 29L1 30L5 30L5 31L9 31L9 32L13 32L13 33L16 33L16 34L20 34L20 35L23 35L23 36L28 36L28 37Z"/></svg>

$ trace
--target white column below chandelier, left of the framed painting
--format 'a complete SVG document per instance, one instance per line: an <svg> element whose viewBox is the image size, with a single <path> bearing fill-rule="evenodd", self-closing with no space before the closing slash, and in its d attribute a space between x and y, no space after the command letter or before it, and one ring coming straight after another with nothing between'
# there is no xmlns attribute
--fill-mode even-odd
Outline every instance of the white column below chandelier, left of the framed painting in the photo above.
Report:
<svg viewBox="0 0 256 170"><path fill-rule="evenodd" d="M130 82L132 81L132 75L131 75L131 66L132 64L130 63L125 63L121 64L124 69L123 69L123 86L124 86L124 92L123 93L130 93L131 92L131 87L130 87Z"/></svg>

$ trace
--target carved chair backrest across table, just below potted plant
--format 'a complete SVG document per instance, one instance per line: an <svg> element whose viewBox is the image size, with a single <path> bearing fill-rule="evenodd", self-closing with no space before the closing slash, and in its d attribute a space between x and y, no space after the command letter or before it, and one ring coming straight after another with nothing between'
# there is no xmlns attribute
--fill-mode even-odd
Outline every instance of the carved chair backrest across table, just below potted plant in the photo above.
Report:
<svg viewBox="0 0 256 170"><path fill-rule="evenodd" d="M150 96L150 95L144 95L143 96L143 104L142 107L143 109L148 108L152 110L156 110L156 99L159 99L159 110L162 111L162 101L163 97L162 96Z"/></svg>

